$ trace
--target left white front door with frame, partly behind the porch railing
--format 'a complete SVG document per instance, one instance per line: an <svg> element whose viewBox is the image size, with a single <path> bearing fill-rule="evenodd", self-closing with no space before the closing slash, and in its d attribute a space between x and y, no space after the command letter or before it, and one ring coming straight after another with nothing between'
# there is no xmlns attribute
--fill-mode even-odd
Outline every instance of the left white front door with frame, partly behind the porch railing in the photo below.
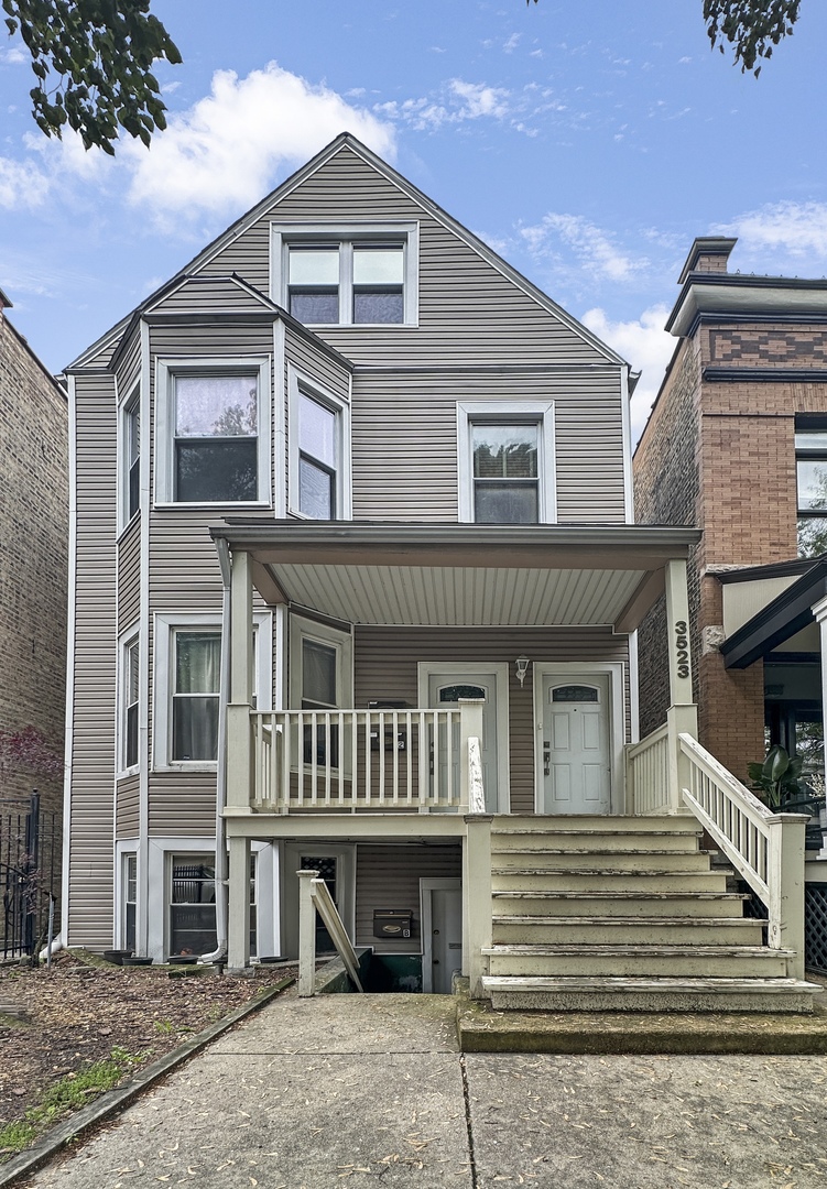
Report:
<svg viewBox="0 0 827 1189"><path fill-rule="evenodd" d="M507 674L506 674L507 677ZM425 679L425 680L422 680ZM485 810L488 813L501 813L501 793L507 788L508 750L507 750L507 725L503 726L503 709L507 715L507 706L501 704L500 686L502 674L496 667L490 669L470 668L457 666L450 668L447 665L420 665L420 698L426 697L424 705L428 710L453 710L458 706L461 698L484 698L485 704L482 710L482 740L480 741L480 757L482 761L482 782L485 791ZM422 688L425 686L425 688ZM506 717L505 723L508 723ZM447 747L445 740L438 741L437 765L434 775L444 776ZM503 762L505 761L505 762ZM459 787L459 732L452 741L451 762L453 766L455 787ZM503 773L505 768L505 773ZM441 772L440 772L441 769ZM503 779L505 776L505 779ZM444 786L443 786L444 787Z"/></svg>

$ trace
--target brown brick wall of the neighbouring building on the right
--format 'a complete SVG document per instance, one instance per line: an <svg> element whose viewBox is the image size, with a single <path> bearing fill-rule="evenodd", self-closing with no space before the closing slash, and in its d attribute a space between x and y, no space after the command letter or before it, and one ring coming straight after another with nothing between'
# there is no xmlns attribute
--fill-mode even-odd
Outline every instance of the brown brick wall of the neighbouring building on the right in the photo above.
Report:
<svg viewBox="0 0 827 1189"><path fill-rule="evenodd" d="M707 365L743 367L744 379L702 380ZM795 558L795 415L827 413L827 385L759 383L750 370L825 366L827 331L820 327L701 328L682 345L634 458L638 521L703 529L689 565L698 735L741 780L747 763L764 754L763 666L725 669L704 631L723 622L714 568ZM677 435L687 439L683 446ZM690 451L694 489L687 478ZM639 652L646 734L663 722L669 700L663 606L644 623Z"/></svg>

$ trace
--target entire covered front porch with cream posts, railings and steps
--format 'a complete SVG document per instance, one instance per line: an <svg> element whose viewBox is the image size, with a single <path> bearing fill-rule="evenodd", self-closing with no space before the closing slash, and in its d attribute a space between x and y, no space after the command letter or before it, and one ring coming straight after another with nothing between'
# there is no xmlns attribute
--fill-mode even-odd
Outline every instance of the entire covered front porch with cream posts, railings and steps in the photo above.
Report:
<svg viewBox="0 0 827 1189"><path fill-rule="evenodd" d="M723 986L721 969L734 960L739 937L748 932L747 949L768 950L760 925L741 921L740 899L735 904L720 887L688 897L673 885L677 874L687 873L671 872L669 857L640 874L638 849L659 856L684 835L696 848L703 825L768 905L775 965L756 957L748 977L772 970L772 987L763 990L779 1002L783 989L795 1004L791 1009L802 1009L809 994L798 986L803 824L770 814L696 743L685 581L694 530L512 527L506 534L480 526L244 524L213 535L225 558L231 629L223 820L232 967L249 961L251 839L386 847L394 839L456 839L462 847L462 969L472 995L490 996L490 980L507 977L493 975L491 962L497 930L505 927L497 924L496 838L509 832L507 824L491 823L512 820L512 832L519 833L519 823L527 820L534 825L525 830L537 843L528 850L543 856L524 864L520 879L535 886L512 889L528 910L510 917L531 918L528 926L539 927L545 940L537 944L552 946L552 970L571 958L564 961L560 946L585 946L585 970L597 946L606 969L619 970L625 961L637 970L634 987L625 980L627 999L615 995L619 1006L633 1002L644 987L651 993L653 980L665 994L670 979L672 999L662 995L662 1001L679 1005L687 1001L685 988L676 984L677 975L663 974L664 962L668 967L673 958L683 982L691 981L687 970L701 969L691 938L703 930L707 988L715 979L716 987ZM283 652L274 710L252 704L253 592L283 617L276 633ZM663 728L637 742L631 636L662 592L671 705ZM516 648L518 640L531 647ZM318 680L319 656L328 665L326 687ZM579 716L582 728L576 747L572 716ZM578 820L588 823L574 847L575 855L585 856L583 869L571 887L549 889L546 856L566 849ZM568 843L560 841L564 835ZM620 848L626 866L613 872L606 839L616 835L628 836L629 845ZM602 841L593 844L595 838ZM635 872L644 883L649 876L665 879L666 889L619 892L616 879L635 877ZM595 877L602 888L589 889ZM390 904L390 873L383 886ZM635 919L620 913L619 921L616 904L632 906ZM664 905L682 911L670 916ZM615 919L606 924L597 910ZM684 912L695 918L693 926L685 917L681 923ZM726 927L709 916L726 918L729 933L721 945L714 938ZM524 925L515 926L518 933ZM632 940L619 939L618 927ZM518 952L520 945L535 945L527 938L516 944ZM681 954L665 954L670 945ZM533 960L539 957L534 950ZM516 971L522 958L512 958ZM603 981L612 979L606 969ZM595 976L562 977L594 984ZM750 998L756 984L738 990ZM566 1001L558 994L550 1002Z"/></svg>

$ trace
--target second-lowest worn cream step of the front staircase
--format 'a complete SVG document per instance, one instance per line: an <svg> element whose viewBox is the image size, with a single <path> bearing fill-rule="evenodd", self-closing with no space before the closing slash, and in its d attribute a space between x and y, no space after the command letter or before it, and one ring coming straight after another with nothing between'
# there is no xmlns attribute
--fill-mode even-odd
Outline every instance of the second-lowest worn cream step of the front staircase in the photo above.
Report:
<svg viewBox="0 0 827 1189"><path fill-rule="evenodd" d="M489 974L784 979L792 950L766 945L489 945Z"/></svg>

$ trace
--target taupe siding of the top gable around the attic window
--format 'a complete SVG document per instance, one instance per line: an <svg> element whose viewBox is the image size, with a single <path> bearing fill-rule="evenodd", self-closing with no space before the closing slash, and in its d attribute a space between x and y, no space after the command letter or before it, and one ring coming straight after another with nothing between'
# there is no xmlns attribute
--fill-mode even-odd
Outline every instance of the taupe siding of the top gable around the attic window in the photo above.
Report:
<svg viewBox="0 0 827 1189"><path fill-rule="evenodd" d="M604 361L590 342L349 147L274 205L203 271L234 271L269 292L270 224L300 219L419 221L419 328L324 328L325 340L357 363Z"/></svg>

